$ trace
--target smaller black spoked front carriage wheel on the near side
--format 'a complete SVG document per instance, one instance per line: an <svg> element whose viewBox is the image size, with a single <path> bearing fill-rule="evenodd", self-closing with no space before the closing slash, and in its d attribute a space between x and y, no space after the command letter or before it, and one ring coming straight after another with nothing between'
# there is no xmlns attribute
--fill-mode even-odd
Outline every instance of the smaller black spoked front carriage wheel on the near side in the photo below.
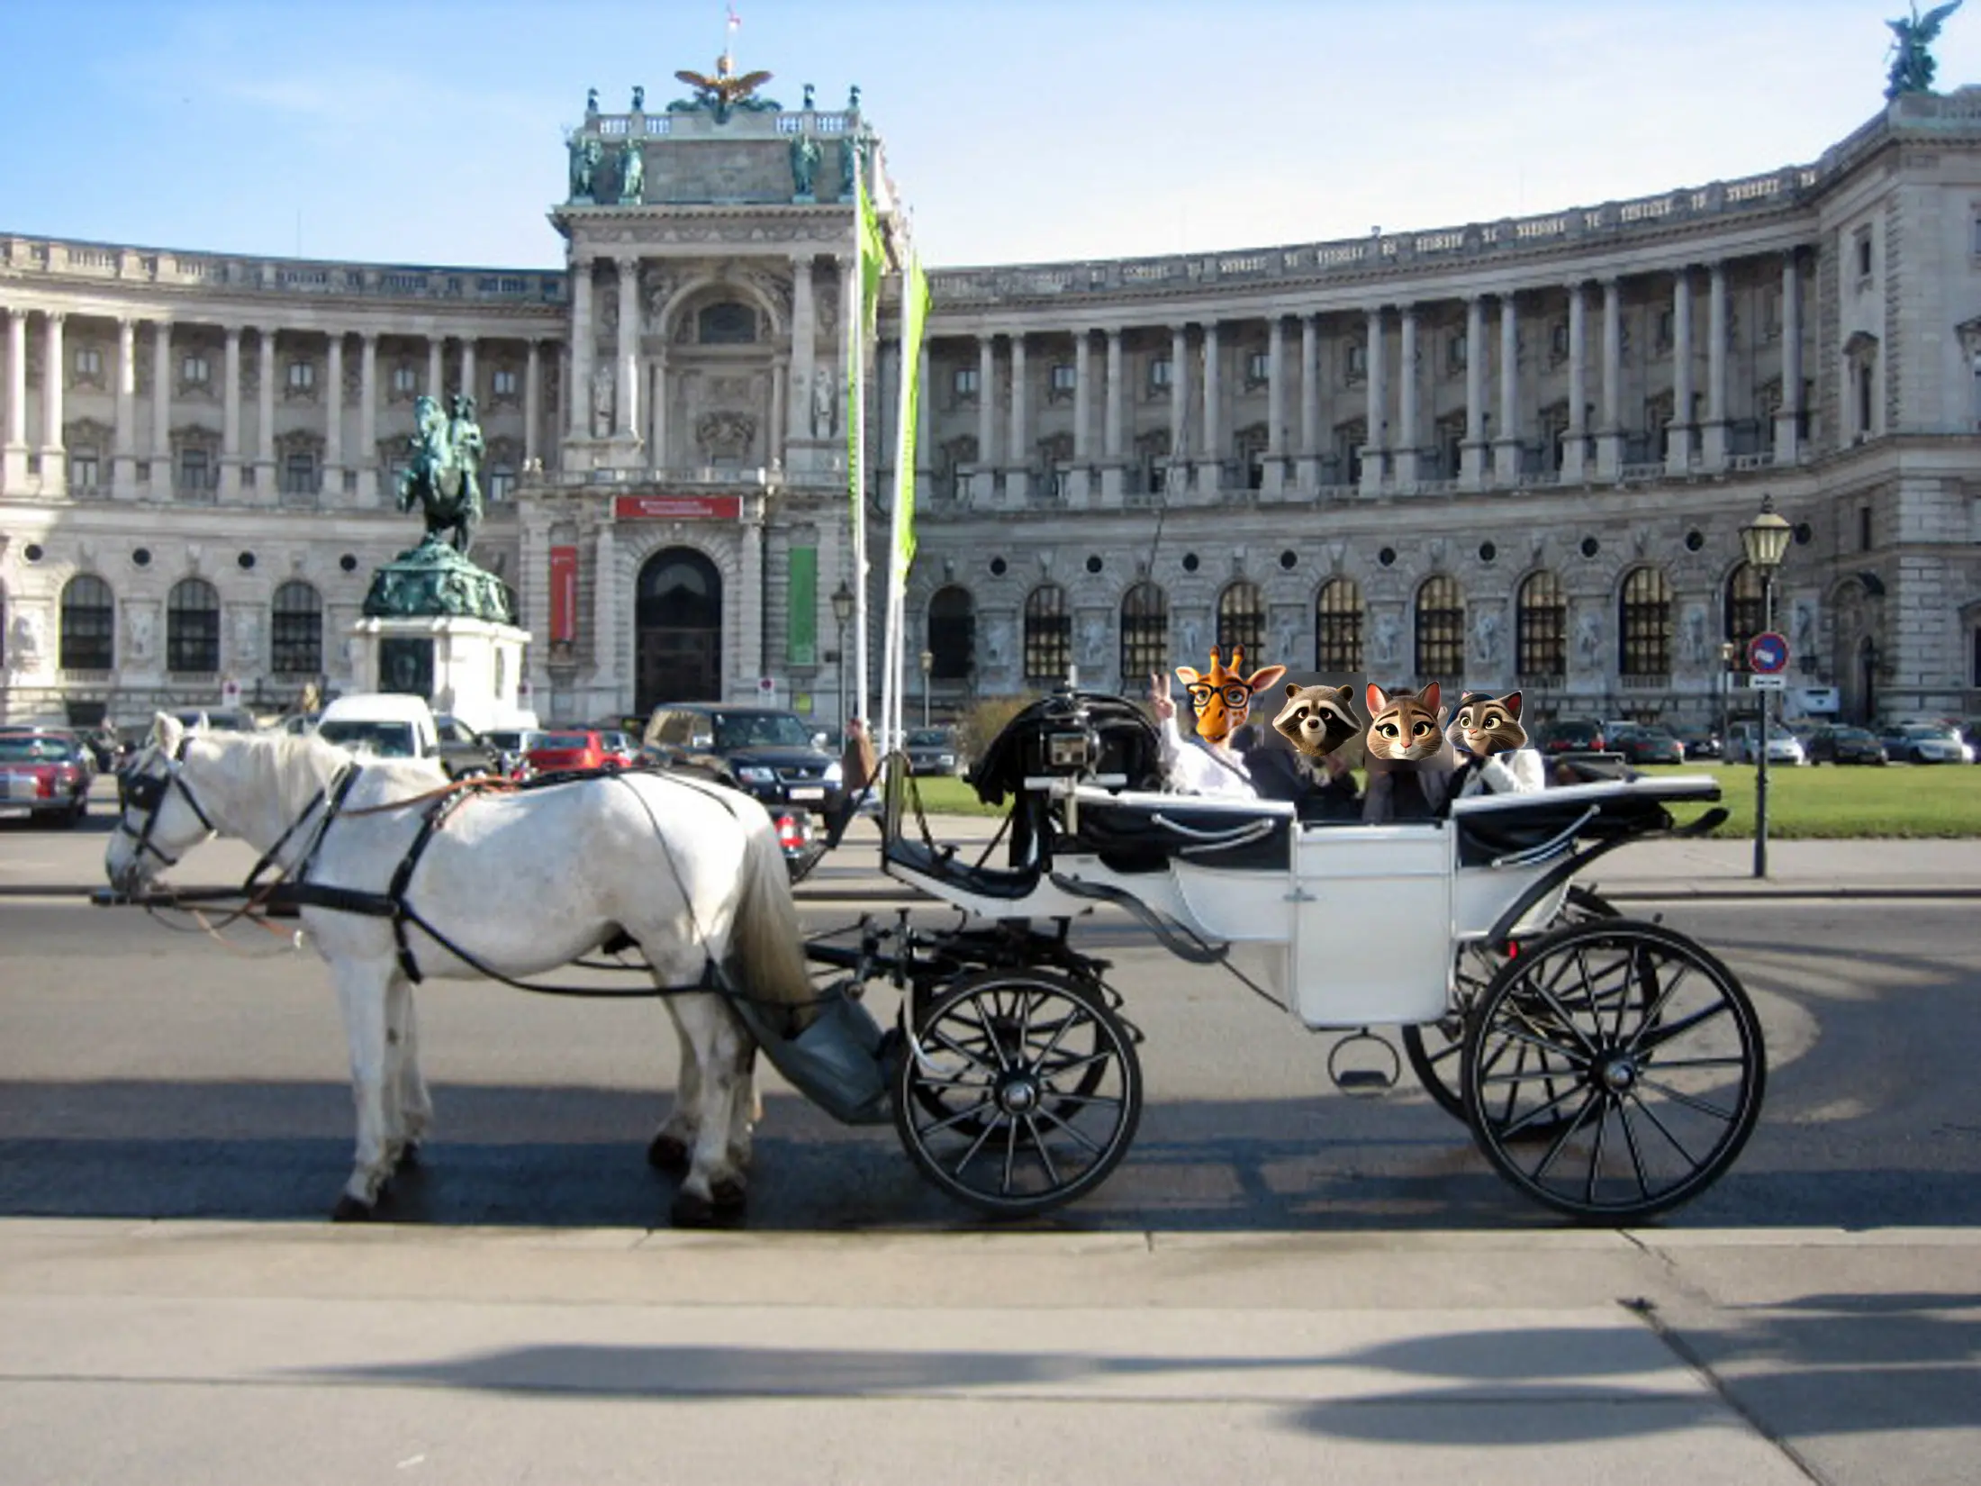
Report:
<svg viewBox="0 0 1981 1486"><path fill-rule="evenodd" d="M979 971L913 1018L893 1123L909 1157L990 1217L1050 1213L1097 1187L1141 1119L1135 1032L1105 997L1046 971Z"/></svg>

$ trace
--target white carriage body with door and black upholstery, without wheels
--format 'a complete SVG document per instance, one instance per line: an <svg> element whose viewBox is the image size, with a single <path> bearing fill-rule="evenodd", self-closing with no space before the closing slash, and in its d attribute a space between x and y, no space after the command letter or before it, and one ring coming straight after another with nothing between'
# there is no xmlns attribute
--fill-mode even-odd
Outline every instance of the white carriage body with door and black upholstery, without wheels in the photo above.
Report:
<svg viewBox="0 0 1981 1486"><path fill-rule="evenodd" d="M1050 870L957 872L905 850L887 872L983 919L1117 903L1181 925L1240 951L1309 1028L1436 1020L1454 949L1555 919L1571 876L1561 866L1603 812L1718 796L1704 775L1605 781L1365 826L1302 822L1284 800L1026 783L1052 798Z"/></svg>

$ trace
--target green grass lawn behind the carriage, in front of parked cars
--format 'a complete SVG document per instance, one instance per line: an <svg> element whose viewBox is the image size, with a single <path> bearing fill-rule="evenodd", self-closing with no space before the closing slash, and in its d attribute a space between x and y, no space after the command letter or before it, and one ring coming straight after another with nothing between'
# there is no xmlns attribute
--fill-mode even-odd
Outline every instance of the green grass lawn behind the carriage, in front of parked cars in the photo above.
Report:
<svg viewBox="0 0 1981 1486"><path fill-rule="evenodd" d="M1731 810L1720 836L1753 834L1753 767L1688 763L1646 773L1708 773ZM933 814L1002 814L979 804L961 779L921 777L921 808ZM1690 818L1694 810L1678 812ZM1773 765L1767 771L1767 834L1781 840L1848 836L1981 836L1981 769L1890 765L1836 769Z"/></svg>

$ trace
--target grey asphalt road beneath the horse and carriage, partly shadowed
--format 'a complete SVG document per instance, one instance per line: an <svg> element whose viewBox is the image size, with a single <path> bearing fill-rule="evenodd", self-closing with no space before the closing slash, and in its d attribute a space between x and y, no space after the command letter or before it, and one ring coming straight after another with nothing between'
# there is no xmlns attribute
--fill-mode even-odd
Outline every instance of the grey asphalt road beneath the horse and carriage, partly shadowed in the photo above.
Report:
<svg viewBox="0 0 1981 1486"><path fill-rule="evenodd" d="M810 925L850 909L810 909ZM1672 1219L1712 1224L1981 1221L1981 941L1953 903L1688 903L1761 1008L1773 1078L1739 1165ZM1121 923L1117 961L1149 1108L1078 1228L1341 1230L1549 1224L1405 1084L1327 1088L1331 1038ZM0 1215L307 1219L343 1181L351 1104L321 963L236 931L172 935L131 909L0 900ZM432 983L430 1167L400 1217L456 1224L648 1224L668 1185L640 1145L672 1088L650 1003ZM889 993L878 1007L891 1012ZM844 1129L769 1082L751 1222L953 1226L887 1129Z"/></svg>

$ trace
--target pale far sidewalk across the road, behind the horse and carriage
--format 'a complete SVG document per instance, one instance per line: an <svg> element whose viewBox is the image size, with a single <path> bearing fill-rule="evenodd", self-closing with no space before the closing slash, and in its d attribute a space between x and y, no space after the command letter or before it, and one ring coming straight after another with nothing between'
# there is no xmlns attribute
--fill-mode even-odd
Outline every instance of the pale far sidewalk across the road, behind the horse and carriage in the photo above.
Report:
<svg viewBox="0 0 1981 1486"><path fill-rule="evenodd" d="M107 816L95 804L91 820ZM937 840L975 858L996 834L990 816L929 816ZM87 896L103 886L101 830L10 830L0 838L0 898ZM798 902L919 902L880 872L880 834L856 822L840 850L798 884ZM188 888L234 886L256 854L210 842L172 874ZM1595 862L1583 882L1605 898L1981 898L1981 840L1781 840L1767 846L1767 878L1753 876L1751 840L1646 840Z"/></svg>

